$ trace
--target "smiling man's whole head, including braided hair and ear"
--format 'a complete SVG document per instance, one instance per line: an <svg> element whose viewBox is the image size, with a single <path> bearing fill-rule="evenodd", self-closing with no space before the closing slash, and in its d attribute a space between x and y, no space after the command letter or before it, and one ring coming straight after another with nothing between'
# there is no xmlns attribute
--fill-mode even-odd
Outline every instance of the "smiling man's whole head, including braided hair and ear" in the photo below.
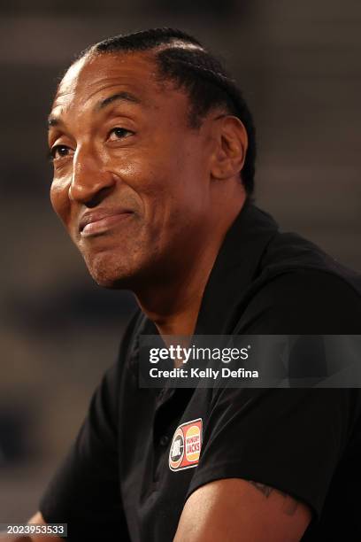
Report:
<svg viewBox="0 0 361 542"><path fill-rule="evenodd" d="M88 48L60 82L49 124L52 205L105 287L136 290L187 266L253 190L247 105L180 31Z"/></svg>

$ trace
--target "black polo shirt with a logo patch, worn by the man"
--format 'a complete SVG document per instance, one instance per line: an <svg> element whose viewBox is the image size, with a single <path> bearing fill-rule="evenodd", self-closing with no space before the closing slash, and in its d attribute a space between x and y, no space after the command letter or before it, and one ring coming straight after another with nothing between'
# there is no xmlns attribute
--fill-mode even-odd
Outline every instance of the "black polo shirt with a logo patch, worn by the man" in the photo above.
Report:
<svg viewBox="0 0 361 542"><path fill-rule="evenodd" d="M247 203L211 271L196 334L358 335L359 285ZM192 492L237 477L311 507L303 540L361 539L358 389L139 389L142 333L157 329L138 312L42 497L48 523L68 523L70 540L168 542ZM181 462L184 438L196 447Z"/></svg>

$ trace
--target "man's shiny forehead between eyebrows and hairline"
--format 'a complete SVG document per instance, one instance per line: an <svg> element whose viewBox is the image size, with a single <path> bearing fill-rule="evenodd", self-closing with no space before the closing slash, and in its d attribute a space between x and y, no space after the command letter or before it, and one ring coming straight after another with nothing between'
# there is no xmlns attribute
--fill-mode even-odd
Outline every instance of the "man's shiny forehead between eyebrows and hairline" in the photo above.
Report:
<svg viewBox="0 0 361 542"><path fill-rule="evenodd" d="M152 53L105 53L81 58L68 69L52 110L61 114L73 107L86 107L120 87L138 97L143 105L154 105L172 92L184 95L170 81L160 81Z"/></svg>

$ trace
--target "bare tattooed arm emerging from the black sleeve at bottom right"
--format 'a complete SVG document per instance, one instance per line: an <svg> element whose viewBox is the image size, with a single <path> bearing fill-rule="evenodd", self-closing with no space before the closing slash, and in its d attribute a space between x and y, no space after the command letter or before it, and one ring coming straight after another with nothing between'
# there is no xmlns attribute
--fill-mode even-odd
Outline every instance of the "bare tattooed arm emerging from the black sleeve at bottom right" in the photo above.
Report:
<svg viewBox="0 0 361 542"><path fill-rule="evenodd" d="M228 478L205 484L188 498L174 542L296 542L311 510L264 484Z"/></svg>

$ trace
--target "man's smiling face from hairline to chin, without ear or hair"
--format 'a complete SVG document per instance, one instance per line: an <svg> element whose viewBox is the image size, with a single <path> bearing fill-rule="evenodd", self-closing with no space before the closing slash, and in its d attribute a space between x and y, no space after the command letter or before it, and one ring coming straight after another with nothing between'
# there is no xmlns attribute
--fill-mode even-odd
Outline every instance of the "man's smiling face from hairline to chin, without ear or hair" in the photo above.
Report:
<svg viewBox="0 0 361 542"><path fill-rule="evenodd" d="M211 139L206 125L189 128L188 112L150 53L82 58L61 81L50 198L97 283L161 280L200 250Z"/></svg>

